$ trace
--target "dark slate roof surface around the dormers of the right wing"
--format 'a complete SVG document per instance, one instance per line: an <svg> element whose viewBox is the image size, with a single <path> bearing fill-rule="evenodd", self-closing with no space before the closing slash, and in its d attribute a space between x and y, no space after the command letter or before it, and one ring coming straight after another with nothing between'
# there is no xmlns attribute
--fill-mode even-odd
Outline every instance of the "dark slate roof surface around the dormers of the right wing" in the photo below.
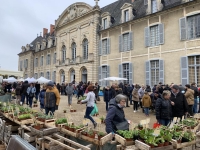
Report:
<svg viewBox="0 0 200 150"><path fill-rule="evenodd" d="M163 10L176 7L178 5L182 4L182 0L162 0L164 2ZM111 27L119 25L120 19L121 19L121 7L125 4L129 3L133 5L133 9L136 10L136 16L133 18L133 20L142 18L146 16L146 10L148 5L144 5L144 0L118 0L112 4L109 4L103 8L101 8L101 14L104 12L109 12L112 17L115 18L115 22L111 25ZM101 21L101 20L100 20Z"/></svg>

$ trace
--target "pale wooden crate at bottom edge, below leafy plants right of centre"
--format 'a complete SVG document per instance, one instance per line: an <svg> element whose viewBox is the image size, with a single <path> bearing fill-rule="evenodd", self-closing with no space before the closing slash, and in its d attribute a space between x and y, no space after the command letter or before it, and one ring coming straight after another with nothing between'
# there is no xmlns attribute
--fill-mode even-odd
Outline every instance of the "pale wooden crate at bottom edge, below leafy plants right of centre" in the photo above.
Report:
<svg viewBox="0 0 200 150"><path fill-rule="evenodd" d="M151 148L149 145L138 140L135 140L135 146L140 150L172 150L173 149L173 145Z"/></svg>

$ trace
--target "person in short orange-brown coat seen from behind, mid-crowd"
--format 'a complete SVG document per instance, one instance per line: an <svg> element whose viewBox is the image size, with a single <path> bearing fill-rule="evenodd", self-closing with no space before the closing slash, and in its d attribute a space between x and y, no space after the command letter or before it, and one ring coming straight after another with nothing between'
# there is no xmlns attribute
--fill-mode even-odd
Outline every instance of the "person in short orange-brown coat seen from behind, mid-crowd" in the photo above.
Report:
<svg viewBox="0 0 200 150"><path fill-rule="evenodd" d="M147 91L144 92L144 96L142 97L142 106L144 108L145 115L149 116L149 108L151 106L151 98Z"/></svg>

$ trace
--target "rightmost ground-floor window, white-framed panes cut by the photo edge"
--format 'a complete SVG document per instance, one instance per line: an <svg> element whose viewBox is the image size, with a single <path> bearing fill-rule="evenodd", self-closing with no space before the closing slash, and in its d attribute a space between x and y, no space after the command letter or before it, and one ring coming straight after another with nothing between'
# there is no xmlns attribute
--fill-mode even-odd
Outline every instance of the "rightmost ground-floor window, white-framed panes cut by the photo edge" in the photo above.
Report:
<svg viewBox="0 0 200 150"><path fill-rule="evenodd" d="M189 83L195 82L200 86L200 55L188 57Z"/></svg>

